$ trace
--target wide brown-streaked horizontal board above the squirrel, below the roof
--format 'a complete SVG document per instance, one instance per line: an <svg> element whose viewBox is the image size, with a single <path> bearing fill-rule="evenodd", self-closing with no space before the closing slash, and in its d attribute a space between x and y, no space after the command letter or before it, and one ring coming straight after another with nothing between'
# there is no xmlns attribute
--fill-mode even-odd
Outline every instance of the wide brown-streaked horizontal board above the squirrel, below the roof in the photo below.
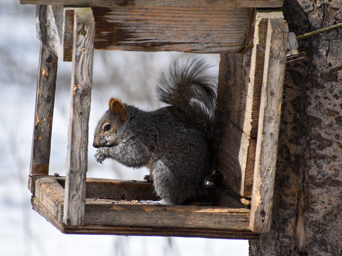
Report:
<svg viewBox="0 0 342 256"><path fill-rule="evenodd" d="M95 49L240 52L248 8L92 8Z"/></svg>

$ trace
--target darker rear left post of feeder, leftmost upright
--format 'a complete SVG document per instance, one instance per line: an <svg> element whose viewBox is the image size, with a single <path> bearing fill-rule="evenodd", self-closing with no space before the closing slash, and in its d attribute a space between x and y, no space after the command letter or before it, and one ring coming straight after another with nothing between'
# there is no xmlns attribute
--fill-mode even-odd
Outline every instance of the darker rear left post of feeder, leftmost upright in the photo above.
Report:
<svg viewBox="0 0 342 256"><path fill-rule="evenodd" d="M40 43L35 123L28 188L34 194L32 174L49 174L51 130L57 76L57 56Z"/></svg>

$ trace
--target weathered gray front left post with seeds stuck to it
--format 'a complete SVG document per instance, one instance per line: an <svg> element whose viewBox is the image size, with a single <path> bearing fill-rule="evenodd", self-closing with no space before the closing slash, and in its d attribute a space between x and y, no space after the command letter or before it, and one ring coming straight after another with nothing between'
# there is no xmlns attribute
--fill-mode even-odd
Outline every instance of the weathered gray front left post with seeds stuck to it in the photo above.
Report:
<svg viewBox="0 0 342 256"><path fill-rule="evenodd" d="M75 8L71 107L63 222L83 225L95 22L91 8Z"/></svg>

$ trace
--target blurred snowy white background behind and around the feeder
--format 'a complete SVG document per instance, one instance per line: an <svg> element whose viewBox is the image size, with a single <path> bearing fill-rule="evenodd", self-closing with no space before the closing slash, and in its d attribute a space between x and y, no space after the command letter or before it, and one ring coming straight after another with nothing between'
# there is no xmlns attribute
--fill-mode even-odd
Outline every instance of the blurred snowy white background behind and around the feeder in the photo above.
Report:
<svg viewBox="0 0 342 256"><path fill-rule="evenodd" d="M248 255L248 241L62 234L32 210L27 189L34 123L39 40L35 6L0 1L0 255ZM161 68L176 52L95 51L87 177L142 180L147 169L94 160L93 131L110 96L146 110L160 107L154 94ZM216 63L219 55L203 55ZM71 62L58 61L50 174L65 176Z"/></svg>

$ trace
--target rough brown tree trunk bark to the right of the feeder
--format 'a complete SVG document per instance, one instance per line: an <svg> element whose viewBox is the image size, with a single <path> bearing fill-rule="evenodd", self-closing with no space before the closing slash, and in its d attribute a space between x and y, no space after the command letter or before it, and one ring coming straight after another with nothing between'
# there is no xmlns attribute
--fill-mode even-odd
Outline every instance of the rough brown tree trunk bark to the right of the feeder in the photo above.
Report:
<svg viewBox="0 0 342 256"><path fill-rule="evenodd" d="M342 22L341 0L285 0L289 31ZM342 29L299 41L287 64L271 232L250 255L342 255Z"/></svg>

